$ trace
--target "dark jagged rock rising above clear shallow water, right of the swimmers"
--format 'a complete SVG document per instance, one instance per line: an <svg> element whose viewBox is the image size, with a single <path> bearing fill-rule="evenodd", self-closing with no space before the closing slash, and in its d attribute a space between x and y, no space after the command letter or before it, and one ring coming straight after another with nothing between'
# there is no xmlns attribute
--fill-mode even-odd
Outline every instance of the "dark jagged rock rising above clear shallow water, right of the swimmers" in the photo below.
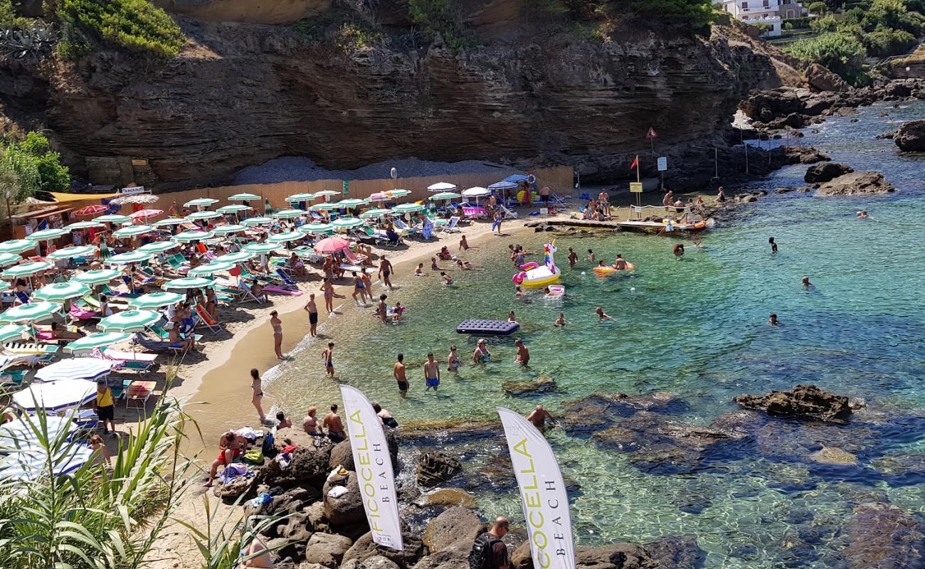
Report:
<svg viewBox="0 0 925 569"><path fill-rule="evenodd" d="M827 393L814 385L797 385L792 390L765 395L739 395L734 402L771 415L841 424L848 422L852 412L847 397Z"/></svg>

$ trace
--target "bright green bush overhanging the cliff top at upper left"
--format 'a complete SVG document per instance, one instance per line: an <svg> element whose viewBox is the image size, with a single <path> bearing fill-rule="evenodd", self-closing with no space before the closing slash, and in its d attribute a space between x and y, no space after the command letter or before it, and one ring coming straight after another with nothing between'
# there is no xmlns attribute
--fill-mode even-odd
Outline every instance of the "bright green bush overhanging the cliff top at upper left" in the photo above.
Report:
<svg viewBox="0 0 925 569"><path fill-rule="evenodd" d="M134 52L176 56L186 40L177 22L147 0L58 0L69 43L87 37Z"/></svg>

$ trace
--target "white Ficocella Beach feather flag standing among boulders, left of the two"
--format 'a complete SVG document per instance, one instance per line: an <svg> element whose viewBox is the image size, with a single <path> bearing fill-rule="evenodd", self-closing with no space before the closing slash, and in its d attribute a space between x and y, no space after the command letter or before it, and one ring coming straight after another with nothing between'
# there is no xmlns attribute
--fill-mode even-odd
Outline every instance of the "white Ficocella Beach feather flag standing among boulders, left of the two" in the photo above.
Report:
<svg viewBox="0 0 925 569"><path fill-rule="evenodd" d="M353 464L373 541L393 550L404 550L395 473L382 420L363 391L341 385L340 395L344 400Z"/></svg>

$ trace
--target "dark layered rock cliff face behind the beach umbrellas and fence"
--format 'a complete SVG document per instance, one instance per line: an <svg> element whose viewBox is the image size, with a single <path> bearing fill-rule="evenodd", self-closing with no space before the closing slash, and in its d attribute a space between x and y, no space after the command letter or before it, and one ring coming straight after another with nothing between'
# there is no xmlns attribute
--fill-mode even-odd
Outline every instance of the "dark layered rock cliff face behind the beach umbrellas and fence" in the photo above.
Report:
<svg viewBox="0 0 925 569"><path fill-rule="evenodd" d="M179 21L191 41L166 66L116 52L7 63L7 118L52 130L97 183L216 183L279 155L325 167L406 156L564 163L603 177L648 151L649 127L667 153L727 125L750 89L780 83L780 63L730 28L555 45L521 34L532 40L455 53L440 41L344 51L283 26Z"/></svg>

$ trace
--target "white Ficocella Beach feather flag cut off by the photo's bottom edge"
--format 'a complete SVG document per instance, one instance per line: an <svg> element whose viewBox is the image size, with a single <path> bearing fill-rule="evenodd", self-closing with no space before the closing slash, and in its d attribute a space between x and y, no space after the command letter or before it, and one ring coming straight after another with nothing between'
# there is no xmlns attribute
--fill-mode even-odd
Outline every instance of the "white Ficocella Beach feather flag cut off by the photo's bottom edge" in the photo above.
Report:
<svg viewBox="0 0 925 569"><path fill-rule="evenodd" d="M530 534L533 566L574 569L569 496L559 462L539 430L521 414L498 407Z"/></svg>

